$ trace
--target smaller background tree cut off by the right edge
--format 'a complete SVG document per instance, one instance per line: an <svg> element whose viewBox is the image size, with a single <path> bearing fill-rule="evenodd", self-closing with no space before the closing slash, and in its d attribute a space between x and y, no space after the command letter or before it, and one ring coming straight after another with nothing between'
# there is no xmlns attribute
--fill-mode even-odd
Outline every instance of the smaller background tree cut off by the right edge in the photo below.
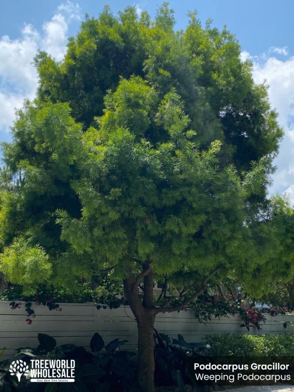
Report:
<svg viewBox="0 0 294 392"><path fill-rule="evenodd" d="M255 301L277 309L294 309L294 210L285 195L271 196L252 232L256 249L263 252L259 263L248 271L243 282ZM266 244L266 246L265 246ZM255 280L250 281L250 276Z"/></svg>

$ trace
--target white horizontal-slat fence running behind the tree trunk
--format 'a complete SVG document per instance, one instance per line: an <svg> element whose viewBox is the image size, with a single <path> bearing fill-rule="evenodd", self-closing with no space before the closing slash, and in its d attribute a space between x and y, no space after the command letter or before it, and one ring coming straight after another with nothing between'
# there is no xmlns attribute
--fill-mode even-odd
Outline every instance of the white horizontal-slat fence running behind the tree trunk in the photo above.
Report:
<svg viewBox="0 0 294 392"><path fill-rule="evenodd" d="M89 348L89 342L94 332L99 332L105 343L121 338L128 341L125 348L135 350L137 344L137 324L128 307L119 309L97 310L93 304L60 304L62 311L49 311L47 306L33 305L36 317L32 324L25 322L24 305L21 309L10 309L10 301L0 301L0 348L6 347L3 359L10 359L19 347L36 347L39 332L53 336L57 344L74 343ZM294 326L283 328L284 321L292 321L294 316L268 317L268 321L258 332L250 328L250 333L280 333L294 332ZM189 342L201 342L205 335L218 332L247 333L240 328L242 321L237 317L213 319L206 325L197 322L193 312L159 314L155 328L159 332L176 338L177 334Z"/></svg>

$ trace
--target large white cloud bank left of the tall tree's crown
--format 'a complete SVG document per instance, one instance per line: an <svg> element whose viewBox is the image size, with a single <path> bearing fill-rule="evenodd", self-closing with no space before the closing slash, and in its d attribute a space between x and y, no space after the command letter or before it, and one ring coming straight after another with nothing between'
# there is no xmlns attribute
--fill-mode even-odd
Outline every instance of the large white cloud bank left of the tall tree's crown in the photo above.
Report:
<svg viewBox="0 0 294 392"><path fill-rule="evenodd" d="M25 24L20 38L0 37L0 134L8 132L15 108L21 107L25 98L35 96L38 80L32 61L37 50L45 50L57 61L62 60L68 25L79 18L79 5L67 1L43 24L42 31Z"/></svg>

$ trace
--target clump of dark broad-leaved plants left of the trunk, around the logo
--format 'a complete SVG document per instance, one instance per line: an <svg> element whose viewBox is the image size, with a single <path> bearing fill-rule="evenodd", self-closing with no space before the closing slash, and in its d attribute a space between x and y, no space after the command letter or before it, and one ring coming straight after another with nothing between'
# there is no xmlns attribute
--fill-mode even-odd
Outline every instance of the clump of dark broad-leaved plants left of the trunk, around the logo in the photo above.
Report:
<svg viewBox="0 0 294 392"><path fill-rule="evenodd" d="M139 392L136 381L136 362L131 358L136 353L120 350L127 341L115 339L105 345L96 332L91 341L91 352L75 344L56 345L53 337L38 334L36 348L19 348L16 355L39 359L73 359L75 361L75 381L70 384L47 383L39 385L38 391L55 392ZM43 384L43 383L42 383Z"/></svg>

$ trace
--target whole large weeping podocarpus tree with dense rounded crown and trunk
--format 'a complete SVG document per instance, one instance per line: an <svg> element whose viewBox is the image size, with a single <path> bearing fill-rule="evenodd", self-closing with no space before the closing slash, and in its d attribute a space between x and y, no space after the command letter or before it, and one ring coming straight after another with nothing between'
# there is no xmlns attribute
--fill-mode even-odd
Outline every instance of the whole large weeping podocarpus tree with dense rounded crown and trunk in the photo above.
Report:
<svg viewBox="0 0 294 392"><path fill-rule="evenodd" d="M3 148L20 180L1 193L1 272L25 293L41 282L74 290L99 271L120 279L145 392L156 315L260 264L266 243L253 246L252 233L282 136L235 37L189 18L175 32L167 3L155 22L133 7L87 17L64 61L36 56L37 98ZM180 296L154 298L155 281Z"/></svg>

